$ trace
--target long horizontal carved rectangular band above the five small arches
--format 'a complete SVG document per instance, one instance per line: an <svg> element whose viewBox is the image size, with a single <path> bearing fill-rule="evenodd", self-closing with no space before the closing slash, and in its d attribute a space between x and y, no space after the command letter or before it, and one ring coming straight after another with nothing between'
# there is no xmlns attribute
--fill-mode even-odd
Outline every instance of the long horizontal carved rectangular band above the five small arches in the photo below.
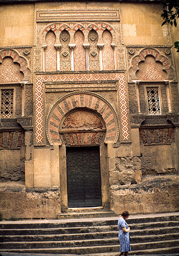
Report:
<svg viewBox="0 0 179 256"><path fill-rule="evenodd" d="M119 21L120 10L36 10L36 22L77 20Z"/></svg>

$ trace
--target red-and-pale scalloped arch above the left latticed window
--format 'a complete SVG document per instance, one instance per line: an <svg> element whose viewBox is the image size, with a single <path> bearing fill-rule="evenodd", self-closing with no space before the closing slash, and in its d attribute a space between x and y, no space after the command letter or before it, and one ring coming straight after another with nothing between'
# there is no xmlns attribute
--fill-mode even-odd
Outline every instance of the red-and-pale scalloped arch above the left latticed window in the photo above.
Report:
<svg viewBox="0 0 179 256"><path fill-rule="evenodd" d="M3 63L3 59L6 57L11 58L14 63L18 63L20 65L19 71L24 74L22 81L29 81L31 79L29 62L24 56L21 56L16 50L13 49L0 50L0 65Z"/></svg>

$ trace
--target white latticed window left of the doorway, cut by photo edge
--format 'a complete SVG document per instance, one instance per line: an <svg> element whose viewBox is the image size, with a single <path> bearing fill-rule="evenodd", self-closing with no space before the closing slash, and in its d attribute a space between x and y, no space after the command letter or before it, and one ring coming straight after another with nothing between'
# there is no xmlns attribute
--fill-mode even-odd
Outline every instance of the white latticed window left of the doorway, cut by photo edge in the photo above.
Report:
<svg viewBox="0 0 179 256"><path fill-rule="evenodd" d="M13 89L1 90L1 117L13 117Z"/></svg>

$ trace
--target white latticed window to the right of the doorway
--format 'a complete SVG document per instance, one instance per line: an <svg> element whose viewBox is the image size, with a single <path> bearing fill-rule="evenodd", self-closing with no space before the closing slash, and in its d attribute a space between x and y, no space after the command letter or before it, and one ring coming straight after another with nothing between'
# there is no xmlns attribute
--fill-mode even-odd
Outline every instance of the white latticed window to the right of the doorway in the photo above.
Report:
<svg viewBox="0 0 179 256"><path fill-rule="evenodd" d="M161 114L159 87L147 87L147 104L149 115Z"/></svg>

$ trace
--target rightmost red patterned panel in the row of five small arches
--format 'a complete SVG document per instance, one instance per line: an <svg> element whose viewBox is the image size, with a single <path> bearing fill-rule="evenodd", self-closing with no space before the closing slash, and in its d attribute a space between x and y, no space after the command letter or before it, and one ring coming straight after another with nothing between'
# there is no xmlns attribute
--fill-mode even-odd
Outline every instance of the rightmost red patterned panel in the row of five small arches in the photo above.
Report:
<svg viewBox="0 0 179 256"><path fill-rule="evenodd" d="M103 70L115 70L115 61L114 61L114 50L111 47L112 36L109 31L105 30L102 34L103 41Z"/></svg>

